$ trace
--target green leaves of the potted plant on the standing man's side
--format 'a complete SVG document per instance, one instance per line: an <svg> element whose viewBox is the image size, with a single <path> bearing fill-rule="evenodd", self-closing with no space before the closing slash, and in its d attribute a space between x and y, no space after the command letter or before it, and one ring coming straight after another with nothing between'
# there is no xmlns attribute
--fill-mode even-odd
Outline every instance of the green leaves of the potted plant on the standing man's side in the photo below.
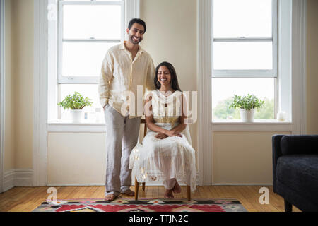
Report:
<svg viewBox="0 0 318 226"><path fill-rule="evenodd" d="M64 97L64 100L59 102L57 105L64 109L79 110L86 106L90 107L92 104L93 102L91 102L88 97L84 98L81 93L75 92L73 95L67 95Z"/></svg>

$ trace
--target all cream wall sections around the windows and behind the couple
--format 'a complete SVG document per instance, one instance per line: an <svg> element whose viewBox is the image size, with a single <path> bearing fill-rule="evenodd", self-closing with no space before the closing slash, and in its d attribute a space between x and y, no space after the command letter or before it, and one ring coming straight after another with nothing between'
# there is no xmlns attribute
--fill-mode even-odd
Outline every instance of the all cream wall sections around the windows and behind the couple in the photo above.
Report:
<svg viewBox="0 0 318 226"><path fill-rule="evenodd" d="M30 169L33 157L33 0L11 0L11 13L11 85L8 83L7 90L11 89L12 102L6 112L12 116L13 126L6 128L6 133L13 135L11 147L6 146L5 166L6 169ZM307 13L307 130L318 133L317 0L307 1ZM170 61L177 70L182 90L196 90L196 0L141 0L141 18L148 26L143 47L155 64ZM10 93L6 95L10 97ZM196 125L190 129L196 148ZM273 133L275 131L215 133L215 153L211 160L213 182L271 182L269 156ZM49 133L49 183L103 183L105 138L105 133ZM246 158L236 161L233 156L237 154Z"/></svg>

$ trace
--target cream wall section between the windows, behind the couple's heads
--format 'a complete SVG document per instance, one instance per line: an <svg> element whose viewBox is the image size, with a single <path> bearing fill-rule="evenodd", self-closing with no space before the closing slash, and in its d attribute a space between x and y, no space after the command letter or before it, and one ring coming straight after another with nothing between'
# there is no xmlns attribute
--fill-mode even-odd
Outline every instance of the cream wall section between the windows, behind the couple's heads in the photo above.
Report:
<svg viewBox="0 0 318 226"><path fill-rule="evenodd" d="M182 91L196 91L196 1L141 0L141 19L147 31L142 46L155 66L170 62ZM196 149L196 124L189 126Z"/></svg>

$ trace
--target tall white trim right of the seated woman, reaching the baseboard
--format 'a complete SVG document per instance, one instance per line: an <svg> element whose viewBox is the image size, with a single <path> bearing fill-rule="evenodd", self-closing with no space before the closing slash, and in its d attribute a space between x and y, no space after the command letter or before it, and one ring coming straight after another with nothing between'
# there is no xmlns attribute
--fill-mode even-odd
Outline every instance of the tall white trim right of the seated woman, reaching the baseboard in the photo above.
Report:
<svg viewBox="0 0 318 226"><path fill-rule="evenodd" d="M211 34L212 34L212 2L198 0L198 169L199 184L212 185L213 173L213 145L212 145L212 96L211 96Z"/></svg>

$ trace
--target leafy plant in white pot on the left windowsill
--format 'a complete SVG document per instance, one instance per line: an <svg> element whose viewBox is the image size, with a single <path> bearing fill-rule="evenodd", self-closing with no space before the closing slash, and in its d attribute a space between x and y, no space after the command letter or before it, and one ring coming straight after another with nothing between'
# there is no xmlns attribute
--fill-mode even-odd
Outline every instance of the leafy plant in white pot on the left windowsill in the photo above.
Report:
<svg viewBox="0 0 318 226"><path fill-rule="evenodd" d="M75 92L73 95L67 95L62 102L57 105L64 109L71 109L71 119L73 122L81 122L84 112L83 107L92 106L93 102L88 97L83 97L81 93Z"/></svg>

